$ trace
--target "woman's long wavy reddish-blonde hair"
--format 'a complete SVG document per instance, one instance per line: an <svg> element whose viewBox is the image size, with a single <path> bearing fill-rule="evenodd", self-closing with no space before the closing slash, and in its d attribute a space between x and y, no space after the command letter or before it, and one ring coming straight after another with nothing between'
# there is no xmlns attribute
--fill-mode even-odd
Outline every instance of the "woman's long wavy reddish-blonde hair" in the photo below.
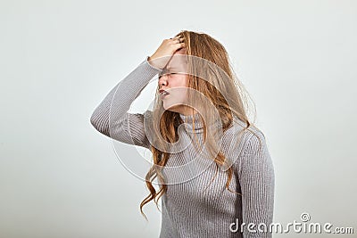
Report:
<svg viewBox="0 0 357 238"><path fill-rule="evenodd" d="M190 74L187 74L188 88L192 88L201 93L205 99L214 105L214 110L219 112L222 126L221 129L226 131L232 124L234 117L237 117L237 119L245 124L245 129L242 130L241 133L245 130L249 130L248 127L254 127L253 123L249 121L247 116L248 108L250 108L250 102L253 103L253 101L250 100L251 98L246 92L245 87L234 74L225 47L216 39L204 33L181 30L176 36L184 38L187 55L195 56L205 61L195 61L188 58L188 67L190 69ZM200 65L206 62L211 62L212 65L217 67L202 67L203 65ZM157 91L158 90L156 90L156 92ZM189 93L187 97L190 102L195 100L197 101L197 98L194 98ZM206 110L208 109L203 108L203 111ZM253 105L253 111L255 115L255 105ZM207 115L212 115L211 113L212 111L207 111ZM173 144L177 142L178 127L180 124L184 123L184 121L179 117L178 112L165 111L163 109L162 100L160 100L158 93L155 95L153 115L154 119L158 119L157 125L162 138L166 140L165 142L162 141L162 144ZM203 119L201 115L200 119ZM209 117L207 119L209 119ZM253 132L253 134L255 133ZM207 147L210 148L211 154L214 155L214 162L216 163L215 175L217 175L218 167L224 165L227 161L222 152L215 151L217 148L216 141L212 139L212 136L207 137L207 127L205 123L203 123L203 139L207 142ZM166 193L167 191L167 185L164 183L160 185L159 191L156 191L152 182L156 177L160 181L164 181L164 176L162 176L161 171L157 169L157 166L164 167L170 157L169 152L163 152L158 148L155 148L153 145L150 150L153 153L154 165L145 176L145 184L150 194L148 194L144 201L140 203L141 214L146 220L147 218L143 212L143 206L152 200L154 200L157 206L158 200L162 197L163 193ZM229 183L234 173L233 168L229 167L226 172L228 175L226 188L229 192L237 193L229 189Z"/></svg>

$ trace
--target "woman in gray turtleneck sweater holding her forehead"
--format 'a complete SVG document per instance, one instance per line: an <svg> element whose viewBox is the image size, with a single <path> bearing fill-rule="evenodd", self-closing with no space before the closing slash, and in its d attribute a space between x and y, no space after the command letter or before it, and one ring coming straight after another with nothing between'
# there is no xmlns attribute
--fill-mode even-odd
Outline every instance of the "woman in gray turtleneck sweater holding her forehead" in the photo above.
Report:
<svg viewBox="0 0 357 238"><path fill-rule="evenodd" d="M154 110L129 113L157 74ZM153 153L140 210L162 197L160 237L271 237L274 168L262 131L247 118L243 89L223 45L182 30L93 112L99 132Z"/></svg>

